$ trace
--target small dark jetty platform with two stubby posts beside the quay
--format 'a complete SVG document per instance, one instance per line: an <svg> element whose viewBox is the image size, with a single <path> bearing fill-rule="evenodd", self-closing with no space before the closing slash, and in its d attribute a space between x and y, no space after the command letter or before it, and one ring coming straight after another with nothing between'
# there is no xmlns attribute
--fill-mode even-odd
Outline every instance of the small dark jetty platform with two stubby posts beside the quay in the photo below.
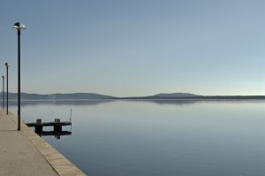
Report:
<svg viewBox="0 0 265 176"><path fill-rule="evenodd" d="M62 131L62 126L71 126L72 121L61 121L55 119L53 122L42 122L42 119L36 119L36 122L26 123L29 127L35 127L36 132L42 131L43 126L53 126L54 131Z"/></svg>

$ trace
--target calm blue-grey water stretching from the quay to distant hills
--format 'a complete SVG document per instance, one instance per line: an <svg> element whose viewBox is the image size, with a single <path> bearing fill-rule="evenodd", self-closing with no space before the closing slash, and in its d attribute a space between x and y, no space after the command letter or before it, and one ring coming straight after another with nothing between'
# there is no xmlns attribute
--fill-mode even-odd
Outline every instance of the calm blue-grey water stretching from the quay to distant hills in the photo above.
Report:
<svg viewBox="0 0 265 176"><path fill-rule="evenodd" d="M265 101L35 101L21 118L71 109L72 135L43 138L87 175L265 175Z"/></svg>

